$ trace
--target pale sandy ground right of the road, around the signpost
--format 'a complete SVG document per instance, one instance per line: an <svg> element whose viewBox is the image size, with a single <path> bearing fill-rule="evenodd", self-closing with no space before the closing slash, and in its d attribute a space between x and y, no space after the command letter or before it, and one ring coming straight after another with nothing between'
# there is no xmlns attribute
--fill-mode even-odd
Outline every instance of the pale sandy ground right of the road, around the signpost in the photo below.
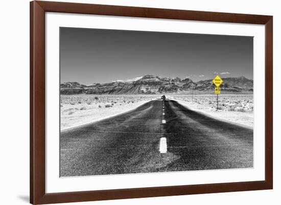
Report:
<svg viewBox="0 0 281 205"><path fill-rule="evenodd" d="M219 110L217 110L216 96L194 95L192 96L168 96L176 99L191 109L205 112L222 119L253 126L253 95L220 95ZM212 103L211 103L212 101Z"/></svg>

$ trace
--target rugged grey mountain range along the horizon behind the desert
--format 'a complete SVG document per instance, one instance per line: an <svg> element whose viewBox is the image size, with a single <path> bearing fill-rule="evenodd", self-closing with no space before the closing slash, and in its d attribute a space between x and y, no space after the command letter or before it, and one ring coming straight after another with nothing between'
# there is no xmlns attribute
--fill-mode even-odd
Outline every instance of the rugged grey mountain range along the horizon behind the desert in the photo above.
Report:
<svg viewBox="0 0 281 205"><path fill-rule="evenodd" d="M237 78L222 78L222 93L252 93L253 80L244 76ZM131 82L93 83L83 85L77 82L60 84L61 94L184 94L191 91L197 93L214 93L215 85L210 80L193 82L190 78L161 78L155 75L145 75Z"/></svg>

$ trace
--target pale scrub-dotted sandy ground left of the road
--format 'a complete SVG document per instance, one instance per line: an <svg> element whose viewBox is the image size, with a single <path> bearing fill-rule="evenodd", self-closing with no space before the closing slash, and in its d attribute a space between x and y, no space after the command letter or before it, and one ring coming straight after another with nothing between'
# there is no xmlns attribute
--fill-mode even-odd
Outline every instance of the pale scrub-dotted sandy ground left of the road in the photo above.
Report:
<svg viewBox="0 0 281 205"><path fill-rule="evenodd" d="M135 109L158 96L62 95L60 129L103 119ZM132 100L133 99L133 100Z"/></svg>

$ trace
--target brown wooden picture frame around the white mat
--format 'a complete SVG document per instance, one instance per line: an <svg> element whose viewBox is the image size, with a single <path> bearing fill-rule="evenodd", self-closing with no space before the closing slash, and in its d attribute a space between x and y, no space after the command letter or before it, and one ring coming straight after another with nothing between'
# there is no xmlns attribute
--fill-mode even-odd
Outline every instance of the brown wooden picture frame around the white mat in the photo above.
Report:
<svg viewBox="0 0 281 205"><path fill-rule="evenodd" d="M265 181L45 193L45 12L265 25ZM273 188L273 17L78 3L30 3L30 202L33 204L264 190Z"/></svg>

